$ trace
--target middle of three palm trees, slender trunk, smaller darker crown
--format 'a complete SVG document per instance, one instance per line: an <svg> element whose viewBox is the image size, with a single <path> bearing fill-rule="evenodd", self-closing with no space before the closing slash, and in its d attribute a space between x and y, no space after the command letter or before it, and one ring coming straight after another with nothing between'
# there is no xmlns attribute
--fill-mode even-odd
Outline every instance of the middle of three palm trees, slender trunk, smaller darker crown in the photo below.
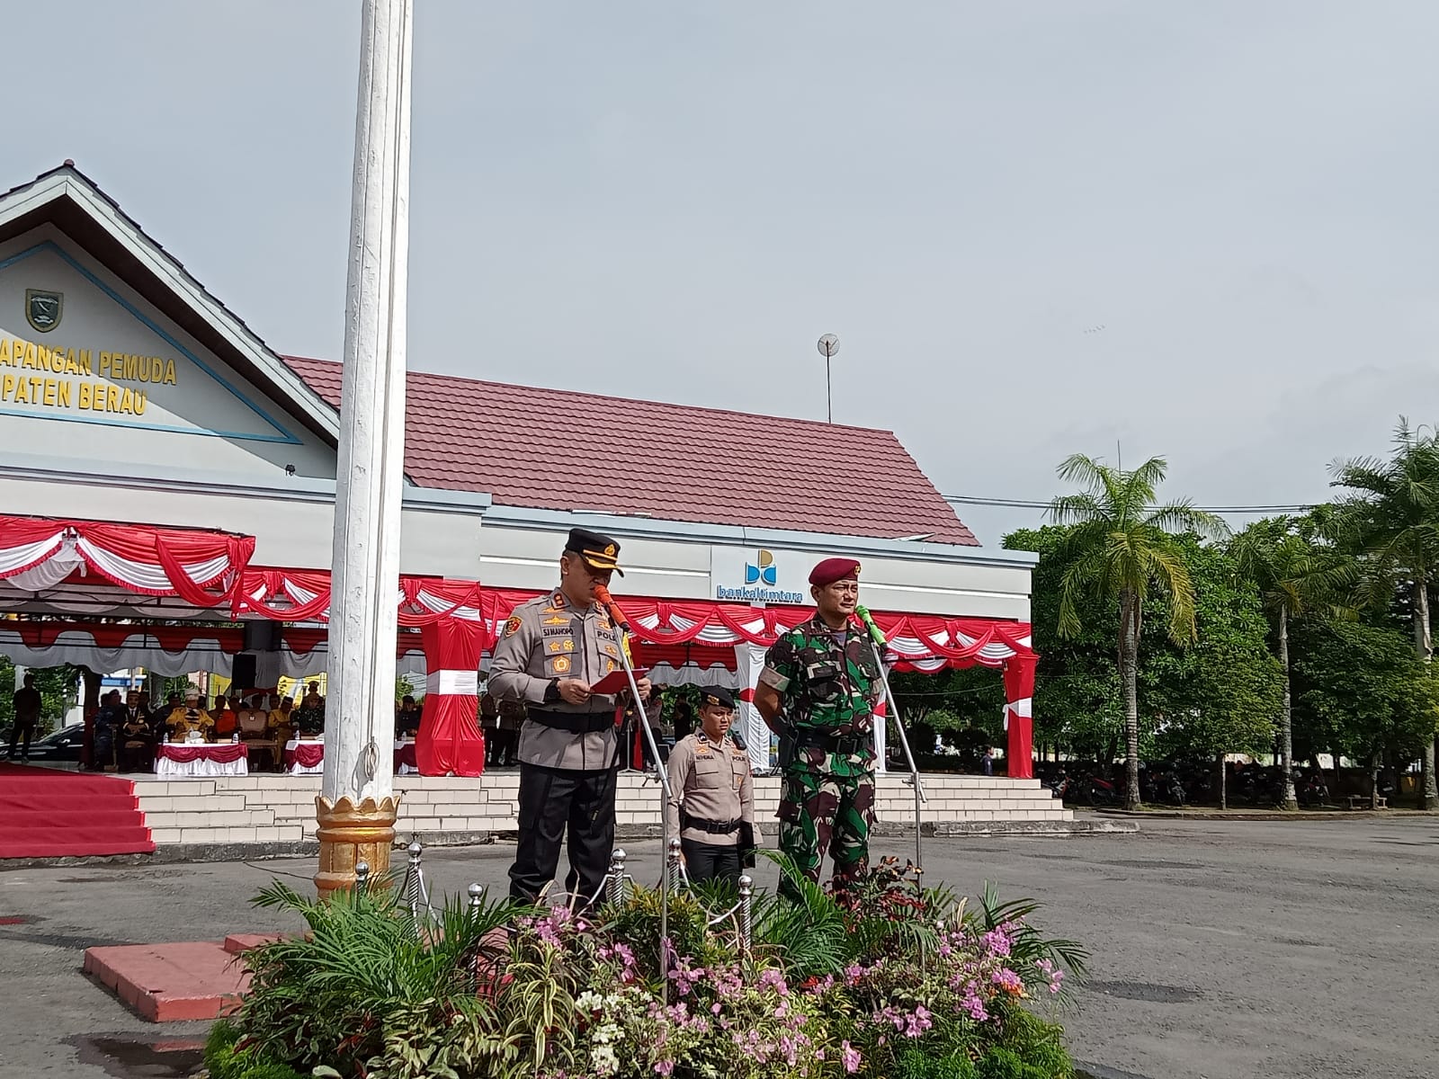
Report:
<svg viewBox="0 0 1439 1079"><path fill-rule="evenodd" d="M1289 706L1289 622L1315 607L1344 613L1340 596L1354 581L1353 564L1337 551L1315 548L1294 531L1288 518L1258 521L1235 538L1232 552L1239 574L1259 588L1265 613L1275 629L1279 666L1284 669L1284 704L1279 712L1279 764L1284 771L1282 804L1299 809L1294 793L1294 724Z"/></svg>

